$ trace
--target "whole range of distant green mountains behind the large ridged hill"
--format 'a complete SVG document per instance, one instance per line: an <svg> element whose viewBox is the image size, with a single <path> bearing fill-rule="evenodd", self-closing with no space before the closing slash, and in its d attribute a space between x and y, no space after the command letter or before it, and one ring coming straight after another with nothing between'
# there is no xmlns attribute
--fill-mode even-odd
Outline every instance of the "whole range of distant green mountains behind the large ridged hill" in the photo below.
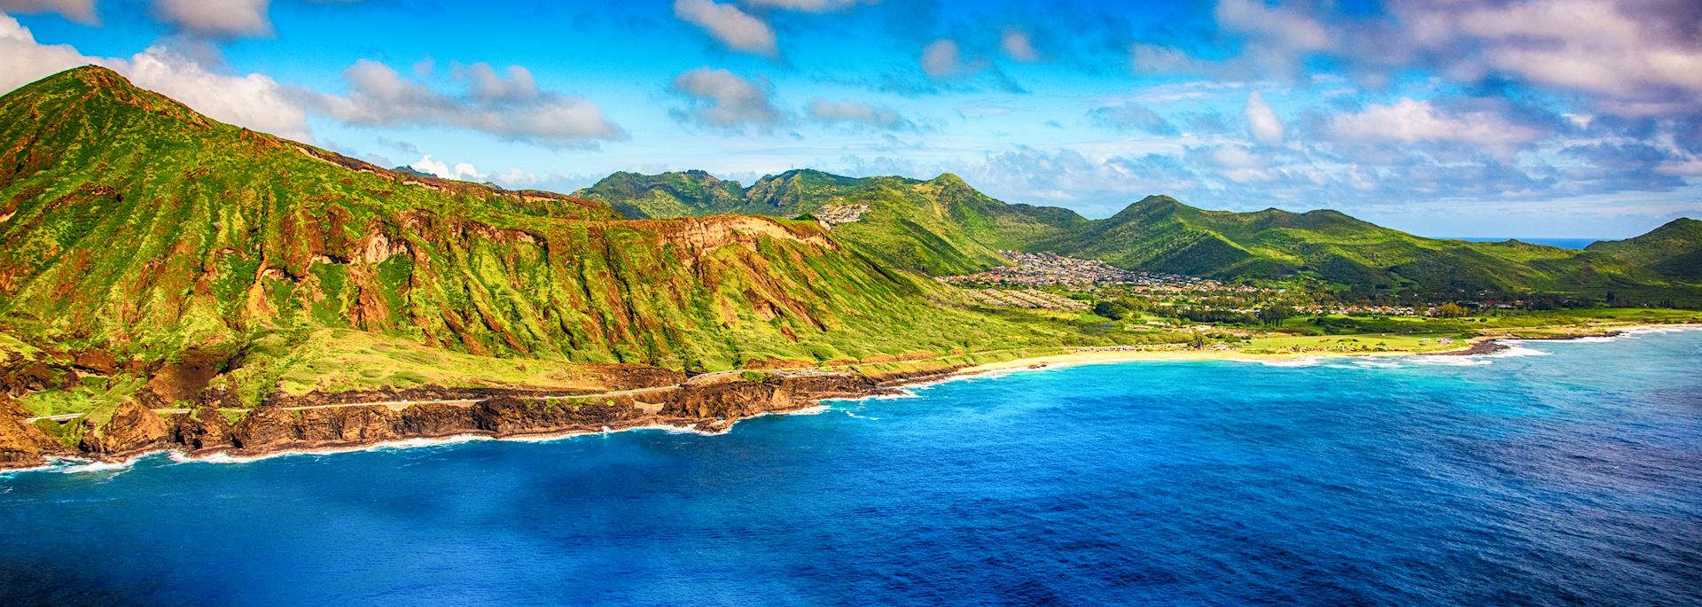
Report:
<svg viewBox="0 0 1702 607"><path fill-rule="evenodd" d="M967 274L1002 264L996 250L1057 252L1154 272L1217 279L1305 275L1345 289L1426 292L1697 291L1695 219L1588 250L1522 241L1413 236L1336 211L1203 211L1149 196L1106 219L1006 204L957 175L849 179L791 170L751 187L705 172L614 173L575 196L628 218L805 216L866 206L834 238L894 267Z"/></svg>

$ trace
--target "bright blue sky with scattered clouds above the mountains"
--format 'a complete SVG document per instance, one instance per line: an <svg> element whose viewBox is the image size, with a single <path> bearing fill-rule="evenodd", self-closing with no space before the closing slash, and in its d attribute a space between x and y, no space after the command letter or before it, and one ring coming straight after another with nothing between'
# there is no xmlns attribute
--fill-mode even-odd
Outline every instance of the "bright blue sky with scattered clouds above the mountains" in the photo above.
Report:
<svg viewBox="0 0 1702 607"><path fill-rule="evenodd" d="M1431 236L1702 216L1685 0L0 0L0 90L102 63L383 165L929 179L1108 216L1145 194Z"/></svg>

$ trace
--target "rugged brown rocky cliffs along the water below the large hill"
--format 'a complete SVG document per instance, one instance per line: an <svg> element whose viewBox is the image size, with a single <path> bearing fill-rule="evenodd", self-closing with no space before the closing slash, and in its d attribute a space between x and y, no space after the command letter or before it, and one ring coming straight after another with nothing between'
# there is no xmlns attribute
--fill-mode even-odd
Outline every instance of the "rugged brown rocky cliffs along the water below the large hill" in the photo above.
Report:
<svg viewBox="0 0 1702 607"><path fill-rule="evenodd" d="M676 427L723 432L739 420L788 413L822 400L894 393L897 386L950 376L958 367L892 376L768 374L762 379L730 376L722 381L688 381L676 371L655 369L642 379L672 381L628 393L574 394L528 389L415 388L308 396L274 396L228 418L231 396L204 391L187 411L158 413L141 400L129 401L106 423L82 428L66 445L26 422L27 413L0 396L0 471L37 468L53 459L117 462L174 451L189 457L225 454L264 457L279 452L361 449L410 439L577 435ZM374 400L424 403L359 405ZM458 400L444 403L444 400ZM85 423L68 422L68 423Z"/></svg>

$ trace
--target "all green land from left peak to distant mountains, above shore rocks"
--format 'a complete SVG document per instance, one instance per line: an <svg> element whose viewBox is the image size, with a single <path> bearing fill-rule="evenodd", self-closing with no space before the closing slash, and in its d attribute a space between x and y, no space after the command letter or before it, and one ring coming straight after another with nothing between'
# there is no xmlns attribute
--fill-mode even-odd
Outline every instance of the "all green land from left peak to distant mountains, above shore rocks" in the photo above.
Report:
<svg viewBox="0 0 1702 607"><path fill-rule="evenodd" d="M174 366L252 406L376 388L597 389L599 364L762 381L773 367L943 371L1082 345L1423 350L1695 315L1460 299L1423 318L1418 292L1688 303L1702 281L1687 219L1569 252L1166 197L1089 221L955 175L798 170L742 187L616 173L584 197L502 190L221 124L104 68L0 97L0 355L34 381L20 405L37 417L104 420ZM1004 264L999 250L1225 282L1186 298L1052 289L1091 309L1065 311L977 304L922 275ZM1333 315L1322 301L1336 292L1411 301ZM1401 306L1413 316L1363 313Z"/></svg>

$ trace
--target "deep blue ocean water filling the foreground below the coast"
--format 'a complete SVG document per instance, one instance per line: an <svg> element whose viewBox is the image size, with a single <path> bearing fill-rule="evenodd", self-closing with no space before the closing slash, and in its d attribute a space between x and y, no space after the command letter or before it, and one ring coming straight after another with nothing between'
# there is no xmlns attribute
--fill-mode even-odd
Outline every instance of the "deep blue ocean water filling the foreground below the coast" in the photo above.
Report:
<svg viewBox="0 0 1702 607"><path fill-rule="evenodd" d="M0 476L3 605L1702 605L1702 332Z"/></svg>

